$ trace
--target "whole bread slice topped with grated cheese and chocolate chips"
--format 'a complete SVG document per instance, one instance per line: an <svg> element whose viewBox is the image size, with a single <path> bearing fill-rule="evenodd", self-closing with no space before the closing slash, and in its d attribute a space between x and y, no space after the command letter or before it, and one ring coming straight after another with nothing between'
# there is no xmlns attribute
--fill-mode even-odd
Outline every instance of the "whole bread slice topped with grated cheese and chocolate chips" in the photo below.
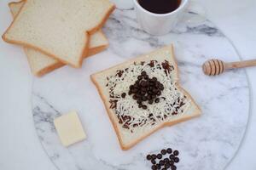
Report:
<svg viewBox="0 0 256 170"><path fill-rule="evenodd" d="M177 72L171 45L91 75L123 150L161 127L201 115Z"/></svg>

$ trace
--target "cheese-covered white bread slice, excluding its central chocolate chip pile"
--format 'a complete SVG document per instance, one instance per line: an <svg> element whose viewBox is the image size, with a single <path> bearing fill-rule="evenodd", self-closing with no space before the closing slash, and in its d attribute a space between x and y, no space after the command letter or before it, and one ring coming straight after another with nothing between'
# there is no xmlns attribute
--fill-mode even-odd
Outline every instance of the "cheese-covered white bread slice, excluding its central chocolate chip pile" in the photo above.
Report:
<svg viewBox="0 0 256 170"><path fill-rule="evenodd" d="M171 67L168 68L172 68L172 70L168 71L169 73L167 74L163 67L161 67L161 70L157 69L157 71L154 72L153 70L157 67L155 60L159 64L164 62L169 63ZM154 69L148 65L151 61L154 62ZM137 76L139 76L142 71L147 71L148 77L157 77L165 87L160 95L160 103L154 103L153 105L147 104L147 110L139 108L136 100L132 99L131 95L128 95L130 85L137 80ZM96 88L102 97L106 110L108 111L108 116L117 133L122 150L130 149L161 127L170 126L201 115L199 106L195 104L192 97L179 85L177 64L174 58L172 45L131 59L105 71L100 71L91 75L90 78L92 82L95 83ZM112 97L110 91L113 92L113 94L111 94ZM125 98L121 97L122 93L126 94ZM117 101L110 103L111 99L117 99ZM169 107L167 107L168 102L181 102L180 100L183 100L185 104L181 105L179 108L175 104L175 107L173 106L173 108L171 108L173 110L166 110L166 108ZM148 114L150 113L152 113L151 118L154 117L155 120L148 118ZM131 117L129 118L129 116ZM120 119L120 117L124 117L124 119ZM142 123L142 125L140 125L137 120L142 122L143 119L146 124L143 125ZM128 124L129 128L125 127L125 122L130 123ZM136 126L135 122L139 124L139 126Z"/></svg>

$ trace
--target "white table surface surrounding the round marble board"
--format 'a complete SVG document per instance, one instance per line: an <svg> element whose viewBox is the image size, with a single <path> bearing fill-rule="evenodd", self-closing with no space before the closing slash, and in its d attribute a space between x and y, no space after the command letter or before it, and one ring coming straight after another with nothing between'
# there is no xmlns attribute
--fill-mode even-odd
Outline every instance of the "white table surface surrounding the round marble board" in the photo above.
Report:
<svg viewBox="0 0 256 170"><path fill-rule="evenodd" d="M1 33L11 20L6 3L7 1L0 3ZM256 42L256 23L253 22L256 4L253 0L242 3L230 0L200 3L207 8L208 18L235 43L243 59L256 57L253 48ZM0 52L0 169L55 169L44 154L33 127L30 102L32 76L28 74L25 56L20 53L20 48L9 46L2 40L0 46L3 49ZM256 167L256 162L253 161L256 156L256 126L253 124L256 121L253 113L256 111L256 102L253 100L256 97L256 70L250 68L247 73L252 86L251 119L241 149L227 169L236 170L242 167L250 170Z"/></svg>

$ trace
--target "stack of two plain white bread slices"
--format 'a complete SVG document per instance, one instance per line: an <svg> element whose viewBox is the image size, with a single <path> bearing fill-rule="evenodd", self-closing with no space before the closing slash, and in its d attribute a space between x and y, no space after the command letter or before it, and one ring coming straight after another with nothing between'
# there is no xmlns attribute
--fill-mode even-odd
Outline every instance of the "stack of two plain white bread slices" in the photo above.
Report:
<svg viewBox="0 0 256 170"><path fill-rule="evenodd" d="M35 76L63 65L79 68L108 47L101 31L114 9L108 0L23 0L9 8L14 21L3 40L23 46Z"/></svg>

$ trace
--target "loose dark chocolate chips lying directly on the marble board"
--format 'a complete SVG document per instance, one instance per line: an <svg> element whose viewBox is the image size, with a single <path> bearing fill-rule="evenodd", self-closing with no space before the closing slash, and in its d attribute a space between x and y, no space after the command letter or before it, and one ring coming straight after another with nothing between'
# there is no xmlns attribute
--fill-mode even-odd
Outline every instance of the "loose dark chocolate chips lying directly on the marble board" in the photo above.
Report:
<svg viewBox="0 0 256 170"><path fill-rule="evenodd" d="M178 150L174 150L172 152L172 149L168 148L166 150L161 150L160 153L158 153L157 155L155 154L148 155L146 158L148 161L151 161L152 163L151 169L153 170L156 170L156 169L176 170L177 167L175 166L175 164L179 161L179 158L177 156L178 156Z"/></svg>

